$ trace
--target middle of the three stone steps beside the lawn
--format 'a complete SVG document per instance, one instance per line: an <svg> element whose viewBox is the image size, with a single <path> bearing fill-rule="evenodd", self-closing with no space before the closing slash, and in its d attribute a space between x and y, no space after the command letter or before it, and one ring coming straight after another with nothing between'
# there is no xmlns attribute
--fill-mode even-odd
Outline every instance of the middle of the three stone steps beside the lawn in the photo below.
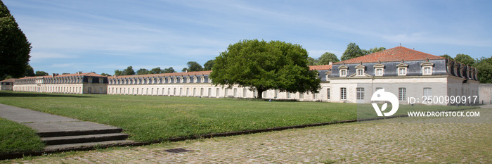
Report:
<svg viewBox="0 0 492 164"><path fill-rule="evenodd" d="M84 143L84 142L123 140L127 138L128 138L128 134L108 133L108 134L89 134L89 135L75 135L75 136L63 136L63 137L43 137L41 138L41 141L44 141L46 145L58 145L58 144L76 144L76 143Z"/></svg>

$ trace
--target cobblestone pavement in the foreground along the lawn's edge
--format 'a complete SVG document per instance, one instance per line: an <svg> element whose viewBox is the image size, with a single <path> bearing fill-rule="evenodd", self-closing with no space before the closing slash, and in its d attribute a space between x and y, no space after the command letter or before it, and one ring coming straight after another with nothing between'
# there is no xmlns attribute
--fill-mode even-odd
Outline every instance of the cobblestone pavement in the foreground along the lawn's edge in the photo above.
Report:
<svg viewBox="0 0 492 164"><path fill-rule="evenodd" d="M410 118L397 118L410 119ZM166 149L193 150L169 153ZM6 163L492 163L490 123L349 123Z"/></svg>

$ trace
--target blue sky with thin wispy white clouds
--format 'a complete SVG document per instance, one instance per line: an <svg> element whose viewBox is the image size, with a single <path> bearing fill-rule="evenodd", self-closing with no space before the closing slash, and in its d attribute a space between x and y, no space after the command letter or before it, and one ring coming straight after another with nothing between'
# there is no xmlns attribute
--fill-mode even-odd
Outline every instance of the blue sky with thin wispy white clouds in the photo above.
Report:
<svg viewBox="0 0 492 164"><path fill-rule="evenodd" d="M34 70L176 71L242 39L300 44L309 56L406 46L492 55L492 1L3 0L32 42Z"/></svg>

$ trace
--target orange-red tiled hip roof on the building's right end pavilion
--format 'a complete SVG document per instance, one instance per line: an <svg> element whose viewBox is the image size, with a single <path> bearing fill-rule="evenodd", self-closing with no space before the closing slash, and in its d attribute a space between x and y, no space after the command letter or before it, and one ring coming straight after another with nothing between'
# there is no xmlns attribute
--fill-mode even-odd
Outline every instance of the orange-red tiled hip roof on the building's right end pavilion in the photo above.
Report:
<svg viewBox="0 0 492 164"><path fill-rule="evenodd" d="M349 60L340 61L334 64L342 63L376 63L376 62L387 62L387 61L420 61L420 60L433 60L433 59L445 59L441 56L435 56L429 53L423 53L421 51L415 51L413 49L408 49L403 46L396 46L392 49L387 49L384 51L379 51L376 53L370 53L365 56L351 58Z"/></svg>

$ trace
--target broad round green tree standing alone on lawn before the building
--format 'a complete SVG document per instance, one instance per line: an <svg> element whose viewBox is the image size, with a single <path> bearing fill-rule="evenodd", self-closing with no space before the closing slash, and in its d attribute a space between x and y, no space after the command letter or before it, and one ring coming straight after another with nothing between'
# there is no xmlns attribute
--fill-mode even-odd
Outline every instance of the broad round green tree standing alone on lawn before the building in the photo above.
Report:
<svg viewBox="0 0 492 164"><path fill-rule="evenodd" d="M212 84L231 89L237 84L258 92L318 93L321 88L316 70L309 70L306 49L280 41L242 40L231 44L215 58Z"/></svg>

